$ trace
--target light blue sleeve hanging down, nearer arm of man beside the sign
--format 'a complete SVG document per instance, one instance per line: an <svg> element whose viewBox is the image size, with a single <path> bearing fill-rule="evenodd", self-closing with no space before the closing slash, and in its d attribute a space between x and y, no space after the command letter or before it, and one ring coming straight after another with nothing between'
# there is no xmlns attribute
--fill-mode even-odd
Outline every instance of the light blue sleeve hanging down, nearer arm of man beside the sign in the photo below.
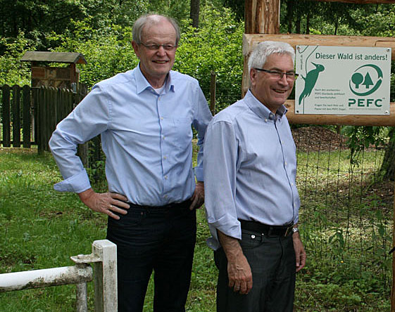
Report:
<svg viewBox="0 0 395 312"><path fill-rule="evenodd" d="M232 123L211 122L204 142L205 207L211 235L218 247L217 230L241 239L235 203L238 140Z"/></svg>

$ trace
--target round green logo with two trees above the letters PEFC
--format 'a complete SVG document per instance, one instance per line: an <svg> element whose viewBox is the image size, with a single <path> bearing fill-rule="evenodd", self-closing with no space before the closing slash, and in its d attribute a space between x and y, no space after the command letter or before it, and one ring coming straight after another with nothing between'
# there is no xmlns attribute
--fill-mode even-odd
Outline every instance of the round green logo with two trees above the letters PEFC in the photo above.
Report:
<svg viewBox="0 0 395 312"><path fill-rule="evenodd" d="M372 77L376 82L373 82ZM351 76L350 90L356 96L369 96L380 88L382 79L383 75L380 67L374 64L362 65Z"/></svg>

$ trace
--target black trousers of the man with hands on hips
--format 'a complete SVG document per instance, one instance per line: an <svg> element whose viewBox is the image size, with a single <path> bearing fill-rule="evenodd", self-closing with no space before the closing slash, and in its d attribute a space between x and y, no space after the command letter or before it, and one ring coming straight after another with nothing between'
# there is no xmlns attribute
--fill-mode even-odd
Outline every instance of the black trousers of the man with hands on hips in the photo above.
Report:
<svg viewBox="0 0 395 312"><path fill-rule="evenodd" d="M118 311L143 311L153 271L154 312L184 312L191 280L196 212L131 205L120 220L108 219L107 239L117 245Z"/></svg>

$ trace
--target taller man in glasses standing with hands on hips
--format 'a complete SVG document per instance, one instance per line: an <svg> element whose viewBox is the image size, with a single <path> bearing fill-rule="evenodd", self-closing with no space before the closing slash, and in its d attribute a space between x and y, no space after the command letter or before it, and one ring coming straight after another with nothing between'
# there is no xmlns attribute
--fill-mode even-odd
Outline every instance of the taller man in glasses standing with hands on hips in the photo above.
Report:
<svg viewBox="0 0 395 312"><path fill-rule="evenodd" d="M153 311L185 311L212 116L196 79L171 70L179 40L173 19L139 18L132 41L139 65L96 84L50 141L65 179L56 190L78 193L87 207L108 214L107 238L118 253L118 311L143 311L152 271ZM194 171L191 126L199 145ZM99 134L108 193L94 192L75 155L77 144Z"/></svg>

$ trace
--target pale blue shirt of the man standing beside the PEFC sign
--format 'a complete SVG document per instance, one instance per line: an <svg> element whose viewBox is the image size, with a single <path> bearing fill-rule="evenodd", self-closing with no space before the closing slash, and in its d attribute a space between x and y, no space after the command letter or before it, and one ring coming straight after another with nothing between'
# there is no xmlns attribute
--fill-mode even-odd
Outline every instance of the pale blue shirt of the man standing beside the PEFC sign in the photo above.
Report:
<svg viewBox="0 0 395 312"><path fill-rule="evenodd" d="M276 115L248 91L215 115L204 142L204 187L208 245L219 247L216 230L241 239L238 219L280 226L299 219L296 147L286 108Z"/></svg>

